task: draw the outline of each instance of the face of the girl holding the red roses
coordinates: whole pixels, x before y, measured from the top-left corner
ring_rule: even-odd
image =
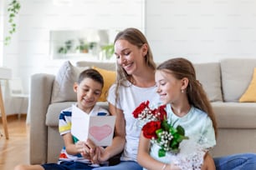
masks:
[[[176,103],[182,95],[182,80],[177,79],[171,72],[156,70],[156,92],[160,95],[161,102]]]

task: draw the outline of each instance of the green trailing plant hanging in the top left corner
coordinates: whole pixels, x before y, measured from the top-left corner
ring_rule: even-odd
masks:
[[[16,32],[16,23],[14,22],[14,18],[18,15],[21,4],[17,0],[13,0],[8,4],[8,23],[9,23],[9,31],[8,36],[4,39],[4,44],[8,45],[11,42],[11,35]]]

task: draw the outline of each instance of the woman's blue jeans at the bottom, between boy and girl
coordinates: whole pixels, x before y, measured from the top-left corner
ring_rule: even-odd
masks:
[[[93,168],[93,170],[120,170],[120,169],[129,169],[129,170],[142,170],[143,168],[134,161],[121,161],[117,165],[110,166],[110,167],[99,167]]]

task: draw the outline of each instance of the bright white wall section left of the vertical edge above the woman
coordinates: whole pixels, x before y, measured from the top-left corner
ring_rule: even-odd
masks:
[[[3,4],[3,0],[0,1]],[[20,2],[17,32],[13,34],[10,45],[3,47],[3,63],[0,65],[12,68],[13,77],[22,77],[26,92],[31,75],[56,73],[64,62],[50,57],[50,30],[122,30],[127,27],[144,30],[144,0],[72,0],[71,5],[64,6],[54,6],[53,0]],[[6,15],[7,7],[4,9]],[[3,42],[3,36],[0,38]]]

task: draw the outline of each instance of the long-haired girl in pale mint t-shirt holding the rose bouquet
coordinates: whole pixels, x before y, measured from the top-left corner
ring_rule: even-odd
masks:
[[[167,120],[181,125],[185,129],[185,135],[189,138],[182,141],[181,151],[182,149],[192,150],[186,145],[190,147],[198,145],[203,150],[212,148],[216,144],[216,120],[206,92],[196,79],[192,63],[185,58],[173,58],[163,62],[156,68],[155,79],[156,92],[160,95],[162,104],[166,105]],[[141,133],[138,162],[142,167],[179,169],[171,162],[172,153],[159,157],[160,147],[156,143],[151,144],[150,142],[150,139],[145,138]],[[184,153],[184,150],[182,152]],[[188,161],[191,163],[192,160]],[[180,168],[186,167],[185,165],[183,163]],[[213,160],[204,163],[202,169],[215,169]]]

